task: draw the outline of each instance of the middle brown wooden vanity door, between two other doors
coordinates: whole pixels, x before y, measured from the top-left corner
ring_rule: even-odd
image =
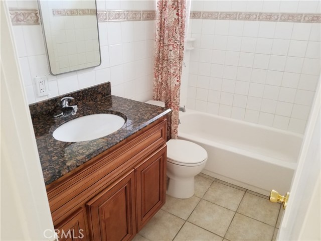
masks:
[[[134,169],[117,179],[86,205],[93,240],[131,239],[136,234]]]

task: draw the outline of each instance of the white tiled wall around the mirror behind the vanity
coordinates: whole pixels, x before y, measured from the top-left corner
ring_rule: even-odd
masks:
[[[97,1],[98,10],[155,10],[155,1]],[[37,1],[9,1],[9,7],[38,9]],[[152,98],[155,21],[101,22],[99,67],[53,76],[48,71],[40,25],[13,26],[28,103],[99,83],[111,82],[112,94],[146,101]],[[38,97],[36,76],[46,75],[49,96]]]

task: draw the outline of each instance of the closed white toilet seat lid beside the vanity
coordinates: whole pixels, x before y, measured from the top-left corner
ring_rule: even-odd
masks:
[[[167,142],[167,161],[181,166],[199,166],[207,160],[206,150],[189,141],[170,140]]]

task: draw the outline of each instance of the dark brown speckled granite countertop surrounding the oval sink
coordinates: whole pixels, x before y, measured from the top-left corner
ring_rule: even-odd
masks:
[[[74,102],[77,104],[77,101]],[[171,110],[114,95],[78,105],[76,115],[54,119],[52,114],[32,115],[41,167],[48,185],[93,157],[103,153]],[[52,137],[54,130],[71,119],[96,113],[113,113],[125,117],[118,131],[85,142],[61,142]]]

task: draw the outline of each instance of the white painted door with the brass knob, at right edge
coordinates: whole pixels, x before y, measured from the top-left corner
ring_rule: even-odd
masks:
[[[321,240],[320,87],[315,95],[277,240]]]

